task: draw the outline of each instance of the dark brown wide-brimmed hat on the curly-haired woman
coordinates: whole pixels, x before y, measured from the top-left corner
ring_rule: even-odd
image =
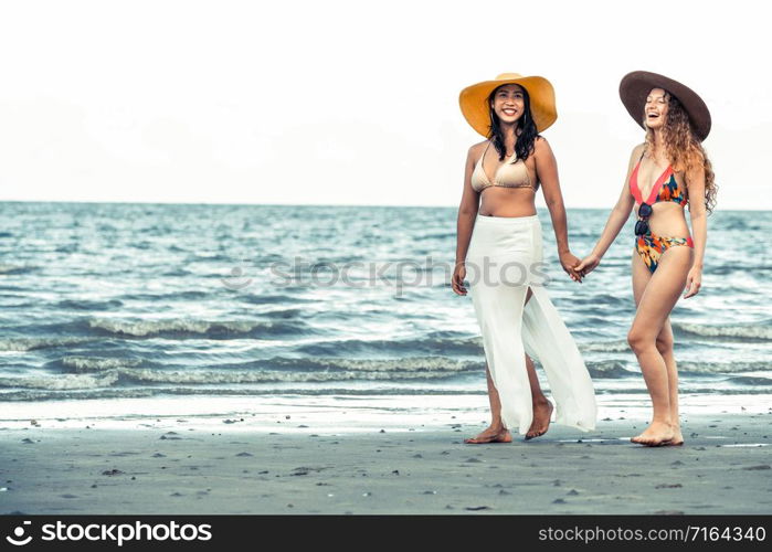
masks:
[[[708,137],[710,134],[710,112],[695,91],[664,75],[648,71],[633,71],[622,78],[620,97],[630,116],[641,125],[641,128],[646,128],[643,121],[644,106],[646,105],[646,96],[652,92],[652,88],[664,88],[677,97],[689,115],[689,121],[697,138],[702,141]]]

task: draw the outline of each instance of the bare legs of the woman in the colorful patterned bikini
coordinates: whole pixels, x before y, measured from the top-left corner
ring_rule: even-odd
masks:
[[[641,364],[654,411],[649,426],[632,439],[643,445],[658,446],[676,437],[670,408],[671,378],[657,348],[657,338],[684,290],[691,255],[691,248],[683,246],[670,247],[663,253],[657,270],[639,296],[635,319],[627,335],[627,341]],[[639,268],[645,266],[639,257],[633,259],[633,266],[635,280]]]

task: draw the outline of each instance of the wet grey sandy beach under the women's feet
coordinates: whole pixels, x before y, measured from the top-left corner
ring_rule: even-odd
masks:
[[[599,399],[594,431],[477,446],[462,440],[487,423],[479,395],[216,397],[195,414],[189,399],[155,412],[151,400],[72,401],[80,417],[50,404],[29,420],[34,405],[6,402],[0,513],[772,511],[772,411],[685,397],[686,444],[645,448],[628,440],[644,397]]]

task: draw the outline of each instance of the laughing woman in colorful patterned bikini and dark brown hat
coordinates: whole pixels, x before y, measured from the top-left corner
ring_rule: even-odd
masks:
[[[627,341],[652,396],[653,416],[631,440],[683,445],[669,315],[681,291],[689,298],[701,286],[706,215],[712,211],[717,189],[701,145],[710,131],[710,113],[695,92],[656,73],[627,74],[620,95],[646,130],[646,139],[633,149],[622,193],[597,244],[575,269],[584,276],[600,264],[635,206],[632,273],[637,309]],[[686,224],[687,205],[694,238]]]

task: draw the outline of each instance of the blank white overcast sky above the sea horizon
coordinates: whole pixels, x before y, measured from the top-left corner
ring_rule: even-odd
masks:
[[[0,6],[0,201],[457,205],[458,93],[517,72],[556,88],[567,205],[610,208],[645,70],[708,104],[718,208],[772,209],[763,2]]]

